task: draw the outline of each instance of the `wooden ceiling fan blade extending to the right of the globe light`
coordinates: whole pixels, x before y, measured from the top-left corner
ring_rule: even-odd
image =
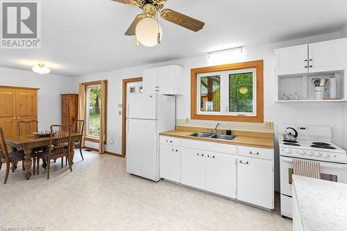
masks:
[[[160,12],[160,17],[195,32],[200,31],[203,26],[205,26],[204,22],[198,21],[192,17],[188,17],[187,15],[183,15],[170,9],[162,10],[162,12]]]

